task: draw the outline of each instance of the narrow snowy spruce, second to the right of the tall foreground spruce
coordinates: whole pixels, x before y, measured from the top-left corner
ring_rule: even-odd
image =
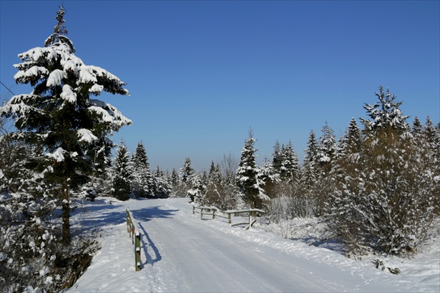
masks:
[[[153,178],[149,170],[149,162],[145,146],[140,141],[132,156],[133,181],[132,189],[136,197],[153,197]]]

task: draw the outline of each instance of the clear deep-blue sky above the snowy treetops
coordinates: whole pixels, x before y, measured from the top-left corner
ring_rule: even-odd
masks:
[[[379,85],[404,115],[440,116],[439,1],[0,1],[0,80],[15,94],[17,55],[42,47],[64,2],[75,55],[128,85],[101,96],[133,120],[113,136],[152,168],[209,169],[276,140],[300,159],[311,129],[344,134]],[[1,95],[7,93],[1,86]]]

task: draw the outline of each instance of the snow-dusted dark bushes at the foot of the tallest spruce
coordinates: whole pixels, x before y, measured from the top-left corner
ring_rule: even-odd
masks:
[[[62,245],[57,199],[29,192],[0,196],[0,291],[23,292],[31,286],[43,292],[71,287],[97,249],[90,240],[74,238]]]

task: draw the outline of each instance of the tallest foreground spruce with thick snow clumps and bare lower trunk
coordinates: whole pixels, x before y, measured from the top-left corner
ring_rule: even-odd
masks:
[[[119,78],[98,66],[87,66],[75,56],[66,36],[64,8],[57,13],[54,34],[45,47],[19,55],[14,78],[34,87],[31,94],[12,97],[0,114],[14,117],[13,138],[38,145],[45,154],[45,180],[63,210],[63,239],[70,243],[70,194],[89,181],[93,157],[108,144],[108,136],[131,121],[115,107],[91,96],[102,91],[129,94]]]

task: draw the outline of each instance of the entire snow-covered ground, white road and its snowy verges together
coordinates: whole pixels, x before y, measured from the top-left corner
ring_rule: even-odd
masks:
[[[200,220],[188,199],[113,202],[77,208],[74,233],[94,233],[102,248],[68,292],[439,292],[438,238],[411,259],[390,259],[402,273],[375,269],[338,252],[263,231]],[[138,222],[142,270],[126,229]],[[209,218],[209,217],[206,217]]]

